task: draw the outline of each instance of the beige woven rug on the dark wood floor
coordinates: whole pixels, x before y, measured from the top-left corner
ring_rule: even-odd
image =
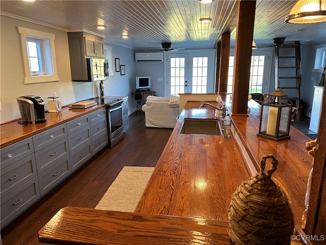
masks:
[[[123,167],[95,209],[133,212],[153,170],[154,167]]]

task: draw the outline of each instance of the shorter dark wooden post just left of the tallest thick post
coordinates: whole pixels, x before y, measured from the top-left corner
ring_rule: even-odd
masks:
[[[229,57],[230,57],[230,33],[222,34],[221,43],[221,66],[219,79],[219,93],[225,94],[228,89],[228,73],[229,73]]]

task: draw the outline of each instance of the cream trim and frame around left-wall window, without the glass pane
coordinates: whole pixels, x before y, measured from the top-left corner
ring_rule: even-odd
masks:
[[[57,72],[57,60],[56,60],[56,51],[55,51],[55,34],[36,31],[28,28],[17,27],[19,37],[20,37],[20,46],[21,46],[21,55],[23,61],[23,70],[24,70],[24,83],[44,83],[44,82],[57,82],[59,81],[59,76]],[[44,41],[42,46],[42,55],[44,58],[44,66],[46,67],[46,73],[33,74],[30,70],[30,62],[27,51],[27,40],[29,37],[36,39],[48,40]]]

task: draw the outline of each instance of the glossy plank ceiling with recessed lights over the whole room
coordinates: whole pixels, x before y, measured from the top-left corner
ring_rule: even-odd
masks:
[[[254,40],[271,44],[275,37],[286,41],[324,41],[323,23],[289,24],[284,17],[297,1],[257,1]],[[226,27],[235,0],[201,4],[197,0],[127,1],[1,1],[1,14],[30,20],[64,31],[88,30],[104,35],[106,42],[130,48],[160,49],[161,42],[172,47],[213,47]],[[212,18],[202,23],[200,18]],[[97,24],[106,29],[99,31]],[[128,39],[122,39],[127,34]],[[236,30],[231,32],[235,43]]]

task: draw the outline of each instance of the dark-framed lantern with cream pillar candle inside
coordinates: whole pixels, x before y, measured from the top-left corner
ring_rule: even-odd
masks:
[[[292,103],[280,86],[261,104],[257,136],[279,141],[289,139]]]

